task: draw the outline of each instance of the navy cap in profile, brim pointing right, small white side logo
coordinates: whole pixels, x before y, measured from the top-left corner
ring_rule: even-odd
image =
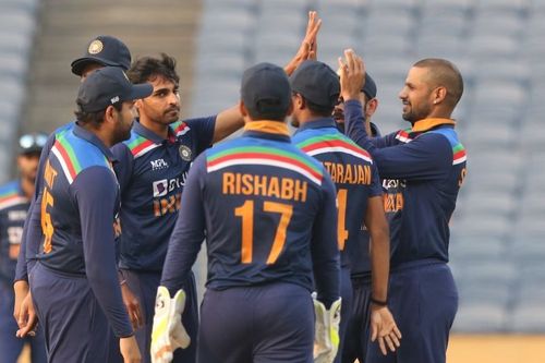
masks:
[[[119,66],[105,66],[80,85],[76,102],[84,112],[98,112],[110,105],[146,98],[153,90],[149,83],[132,84]]]

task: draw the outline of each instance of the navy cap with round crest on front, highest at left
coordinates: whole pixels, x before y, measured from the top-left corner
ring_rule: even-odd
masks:
[[[89,63],[121,66],[126,71],[131,66],[131,52],[118,38],[99,35],[89,41],[85,55],[72,62],[72,73],[81,76],[83,69]]]

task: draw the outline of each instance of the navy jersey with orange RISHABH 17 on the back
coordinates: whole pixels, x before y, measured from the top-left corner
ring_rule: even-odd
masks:
[[[288,282],[339,297],[336,193],[284,123],[254,121],[194,162],[161,285],[175,291],[206,237],[208,289]],[[313,278],[314,273],[314,278]]]

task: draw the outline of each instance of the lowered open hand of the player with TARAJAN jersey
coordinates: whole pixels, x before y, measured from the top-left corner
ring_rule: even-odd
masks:
[[[388,350],[395,352],[399,348],[401,331],[399,331],[396,320],[388,306],[371,307],[371,341],[378,339],[378,346],[384,355]]]

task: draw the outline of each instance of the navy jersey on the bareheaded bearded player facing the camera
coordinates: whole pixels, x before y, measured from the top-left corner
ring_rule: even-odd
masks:
[[[187,171],[211,145],[216,118],[179,121],[167,140],[135,121],[131,138],[116,145],[121,187],[120,267],[161,271]]]

